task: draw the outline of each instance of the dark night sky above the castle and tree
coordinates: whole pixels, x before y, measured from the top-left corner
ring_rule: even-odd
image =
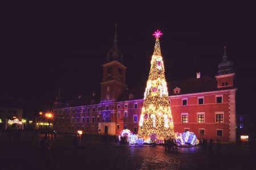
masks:
[[[146,86],[155,44],[152,34],[159,29],[167,81],[195,77],[199,71],[214,78],[226,44],[236,72],[237,114],[252,111],[256,63],[253,4],[167,2],[2,5],[1,96],[22,97],[41,107],[52,105],[59,89],[66,99],[97,92],[117,23],[128,86]]]

